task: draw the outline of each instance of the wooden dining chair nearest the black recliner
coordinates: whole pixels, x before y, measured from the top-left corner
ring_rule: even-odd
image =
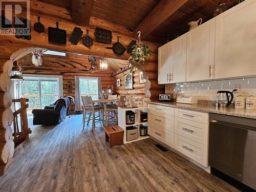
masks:
[[[95,128],[95,113],[96,112],[101,112],[102,114],[102,119],[99,119],[97,122],[102,121],[103,122],[103,111],[104,108],[102,106],[94,106],[94,103],[92,101],[92,97],[88,96],[81,96],[82,99],[82,106],[83,106],[83,129],[84,129],[84,124],[86,123],[86,114],[89,113],[89,117],[87,120],[87,125],[89,124],[90,120],[93,120],[93,126],[92,130],[94,131]],[[91,119],[91,116],[93,115],[93,118]]]

